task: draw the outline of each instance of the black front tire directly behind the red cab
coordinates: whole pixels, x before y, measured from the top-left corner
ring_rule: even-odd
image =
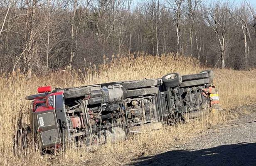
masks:
[[[68,99],[68,98],[78,98],[78,97],[89,95],[89,94],[91,94],[91,88],[90,87],[66,90],[63,93],[64,98],[66,98],[66,99]]]

